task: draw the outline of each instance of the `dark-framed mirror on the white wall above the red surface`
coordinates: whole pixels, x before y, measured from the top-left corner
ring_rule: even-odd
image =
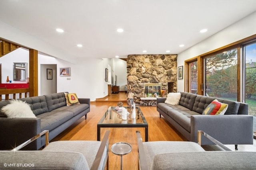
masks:
[[[13,79],[26,81],[28,77],[28,63],[13,63]]]

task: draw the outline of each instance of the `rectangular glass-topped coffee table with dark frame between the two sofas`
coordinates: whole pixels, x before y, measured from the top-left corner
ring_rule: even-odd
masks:
[[[102,116],[102,118],[100,119],[100,121],[97,124],[97,141],[100,141],[100,128],[102,127],[144,127],[145,128],[145,142],[148,142],[148,122],[146,121],[142,111],[140,110],[140,107],[136,106],[137,111],[137,116],[136,119],[142,119],[143,123],[127,123],[127,124],[122,124],[122,123],[103,123],[104,120],[108,119],[108,116],[112,116],[112,114],[118,114],[115,113],[112,109],[114,107],[111,106],[108,108],[108,110],[106,111],[106,113],[104,113],[104,115]],[[128,108],[128,107],[125,107]]]

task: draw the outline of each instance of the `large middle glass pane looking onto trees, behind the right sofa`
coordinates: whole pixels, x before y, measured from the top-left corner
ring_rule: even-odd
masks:
[[[204,95],[237,101],[237,49],[204,58]]]

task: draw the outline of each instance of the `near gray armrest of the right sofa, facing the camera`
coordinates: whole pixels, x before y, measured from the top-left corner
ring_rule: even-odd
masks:
[[[224,145],[253,144],[253,116],[251,115],[192,115],[190,141],[197,142],[197,131],[204,131]],[[212,145],[202,139],[202,145]]]

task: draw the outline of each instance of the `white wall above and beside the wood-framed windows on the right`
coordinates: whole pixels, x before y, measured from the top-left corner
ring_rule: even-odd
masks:
[[[177,65],[184,65],[184,61],[198,55],[218,49],[230,43],[234,43],[246,37],[256,34],[256,12],[246,18],[226,27],[222,31],[212,35],[208,39],[190,47],[186,51],[178,54]],[[178,79],[178,91],[184,91],[184,79]]]

